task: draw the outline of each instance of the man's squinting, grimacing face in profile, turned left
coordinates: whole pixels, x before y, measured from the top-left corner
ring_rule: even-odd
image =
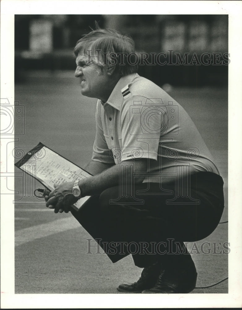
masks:
[[[80,78],[82,95],[107,100],[109,78],[106,68],[100,74],[97,65],[91,62],[84,51],[79,52],[76,65],[75,77]]]

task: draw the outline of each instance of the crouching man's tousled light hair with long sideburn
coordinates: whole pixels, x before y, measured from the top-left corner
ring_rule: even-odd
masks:
[[[96,27],[98,27],[97,24]],[[105,64],[113,64],[115,66],[114,72],[121,76],[138,71],[137,61],[134,61],[134,58],[137,59],[138,55],[135,55],[133,39],[114,29],[97,28],[84,35],[83,38],[77,41],[74,47],[74,55],[77,57],[80,51],[84,51],[89,56],[98,53],[100,56],[98,61],[97,57],[92,57],[92,59],[96,60],[95,63],[98,65],[100,73],[103,72]]]

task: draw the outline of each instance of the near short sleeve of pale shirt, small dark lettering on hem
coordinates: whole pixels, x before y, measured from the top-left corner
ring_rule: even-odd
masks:
[[[152,100],[143,96],[130,96],[121,108],[121,161],[131,158],[157,160],[161,111]]]

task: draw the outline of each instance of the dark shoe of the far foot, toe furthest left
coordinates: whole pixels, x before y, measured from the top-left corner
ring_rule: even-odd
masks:
[[[137,282],[134,283],[122,283],[117,290],[119,292],[132,292],[132,293],[141,293],[142,290],[148,290],[152,288],[161,272],[161,264],[154,263],[149,267],[143,269],[141,277]]]

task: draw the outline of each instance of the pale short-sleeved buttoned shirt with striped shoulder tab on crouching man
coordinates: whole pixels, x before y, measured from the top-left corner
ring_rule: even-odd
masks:
[[[92,155],[94,161],[115,164],[132,158],[147,158],[153,175],[144,182],[159,182],[154,172],[169,179],[177,167],[219,174],[184,108],[137,73],[121,77],[107,102],[98,100]]]

